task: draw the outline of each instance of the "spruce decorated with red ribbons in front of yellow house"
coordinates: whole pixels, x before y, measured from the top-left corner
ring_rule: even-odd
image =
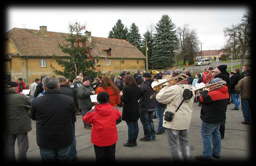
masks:
[[[90,78],[97,77],[100,73],[97,64],[99,57],[92,57],[91,50],[93,49],[93,42],[89,41],[90,35],[82,35],[82,30],[85,30],[85,25],[79,23],[69,24],[69,34],[64,36],[64,44],[59,45],[62,52],[69,55],[68,60],[59,59],[58,55],[53,53],[53,59],[60,67],[63,67],[63,71],[57,70],[50,65],[51,71],[56,75],[62,75],[70,80],[73,80],[79,73],[83,73],[83,76],[89,76]]]

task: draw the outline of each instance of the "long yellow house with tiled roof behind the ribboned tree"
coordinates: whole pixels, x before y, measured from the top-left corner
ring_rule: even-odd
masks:
[[[87,31],[85,33],[91,34]],[[63,35],[68,34],[49,32],[46,26],[41,26],[40,30],[11,29],[4,34],[4,74],[9,76],[11,81],[22,77],[26,84],[31,84],[35,78],[41,76],[55,76],[50,64],[57,70],[62,69],[53,60],[52,55],[55,54],[64,60],[69,57],[58,46],[58,43],[64,44]],[[126,40],[93,36],[89,40],[94,43],[91,55],[100,56],[98,64],[101,65],[100,70],[103,73],[121,72],[123,69],[130,72],[145,69],[146,57]]]

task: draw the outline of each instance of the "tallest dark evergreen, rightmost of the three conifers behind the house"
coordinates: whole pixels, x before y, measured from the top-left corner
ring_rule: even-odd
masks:
[[[175,24],[168,15],[163,15],[156,24],[155,43],[149,64],[165,68],[174,64],[174,44],[177,41]]]

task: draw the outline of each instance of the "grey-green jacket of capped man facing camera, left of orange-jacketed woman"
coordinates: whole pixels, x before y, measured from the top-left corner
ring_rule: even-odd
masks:
[[[78,107],[80,109],[91,109],[94,106],[94,102],[91,102],[90,95],[92,94],[93,88],[91,86],[81,85],[77,89],[78,95]]]

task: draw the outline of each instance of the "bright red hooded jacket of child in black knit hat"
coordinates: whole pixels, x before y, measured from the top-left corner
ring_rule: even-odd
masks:
[[[105,147],[117,142],[116,120],[121,116],[121,112],[110,103],[99,104],[86,113],[82,120],[87,124],[92,124],[91,142],[94,145]]]

